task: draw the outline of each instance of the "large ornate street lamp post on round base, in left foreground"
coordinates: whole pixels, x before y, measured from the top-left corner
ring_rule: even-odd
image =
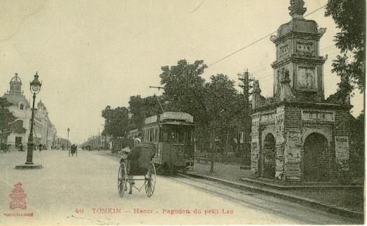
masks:
[[[29,169],[29,168],[35,168],[39,169],[42,168],[41,164],[34,164],[33,163],[33,147],[34,147],[34,141],[33,141],[33,125],[34,125],[34,102],[36,101],[36,94],[39,93],[41,90],[42,83],[39,82],[39,75],[36,72],[34,75],[34,80],[29,84],[29,90],[31,90],[31,93],[33,93],[33,104],[32,104],[32,118],[31,118],[31,130],[29,131],[28,136],[28,143],[27,143],[27,162],[22,165],[15,166],[15,169]]]

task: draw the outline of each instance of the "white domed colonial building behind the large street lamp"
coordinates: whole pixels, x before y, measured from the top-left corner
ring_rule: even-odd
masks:
[[[18,148],[22,143],[26,148],[31,128],[32,108],[23,94],[22,80],[18,77],[18,73],[11,78],[10,91],[6,92],[3,97],[11,103],[8,109],[17,118],[14,130],[8,135],[6,143],[10,144],[11,148]],[[55,141],[57,141],[56,128],[48,118],[46,106],[39,101],[34,112],[34,143],[37,146],[41,143],[43,147],[51,148],[55,146]]]

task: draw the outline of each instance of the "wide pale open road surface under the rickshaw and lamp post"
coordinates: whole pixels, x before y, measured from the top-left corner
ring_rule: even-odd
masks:
[[[32,170],[14,169],[25,162],[26,153],[0,154],[0,225],[356,223],[282,199],[179,176],[158,176],[150,198],[144,190],[120,198],[116,157],[104,151],[79,151],[78,157],[67,154],[35,152],[34,162],[43,164],[43,169]],[[9,195],[18,182],[27,194],[26,210],[9,209]]]

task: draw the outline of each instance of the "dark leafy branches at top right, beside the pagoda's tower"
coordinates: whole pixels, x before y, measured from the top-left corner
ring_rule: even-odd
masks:
[[[340,32],[335,36],[335,45],[341,55],[333,60],[332,72],[348,76],[339,87],[351,90],[355,86],[361,92],[365,84],[366,56],[366,0],[328,0],[325,16],[333,17]]]

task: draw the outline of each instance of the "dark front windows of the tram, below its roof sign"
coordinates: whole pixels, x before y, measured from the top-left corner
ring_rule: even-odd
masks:
[[[183,125],[166,125],[163,128],[163,142],[191,143],[191,129]]]

